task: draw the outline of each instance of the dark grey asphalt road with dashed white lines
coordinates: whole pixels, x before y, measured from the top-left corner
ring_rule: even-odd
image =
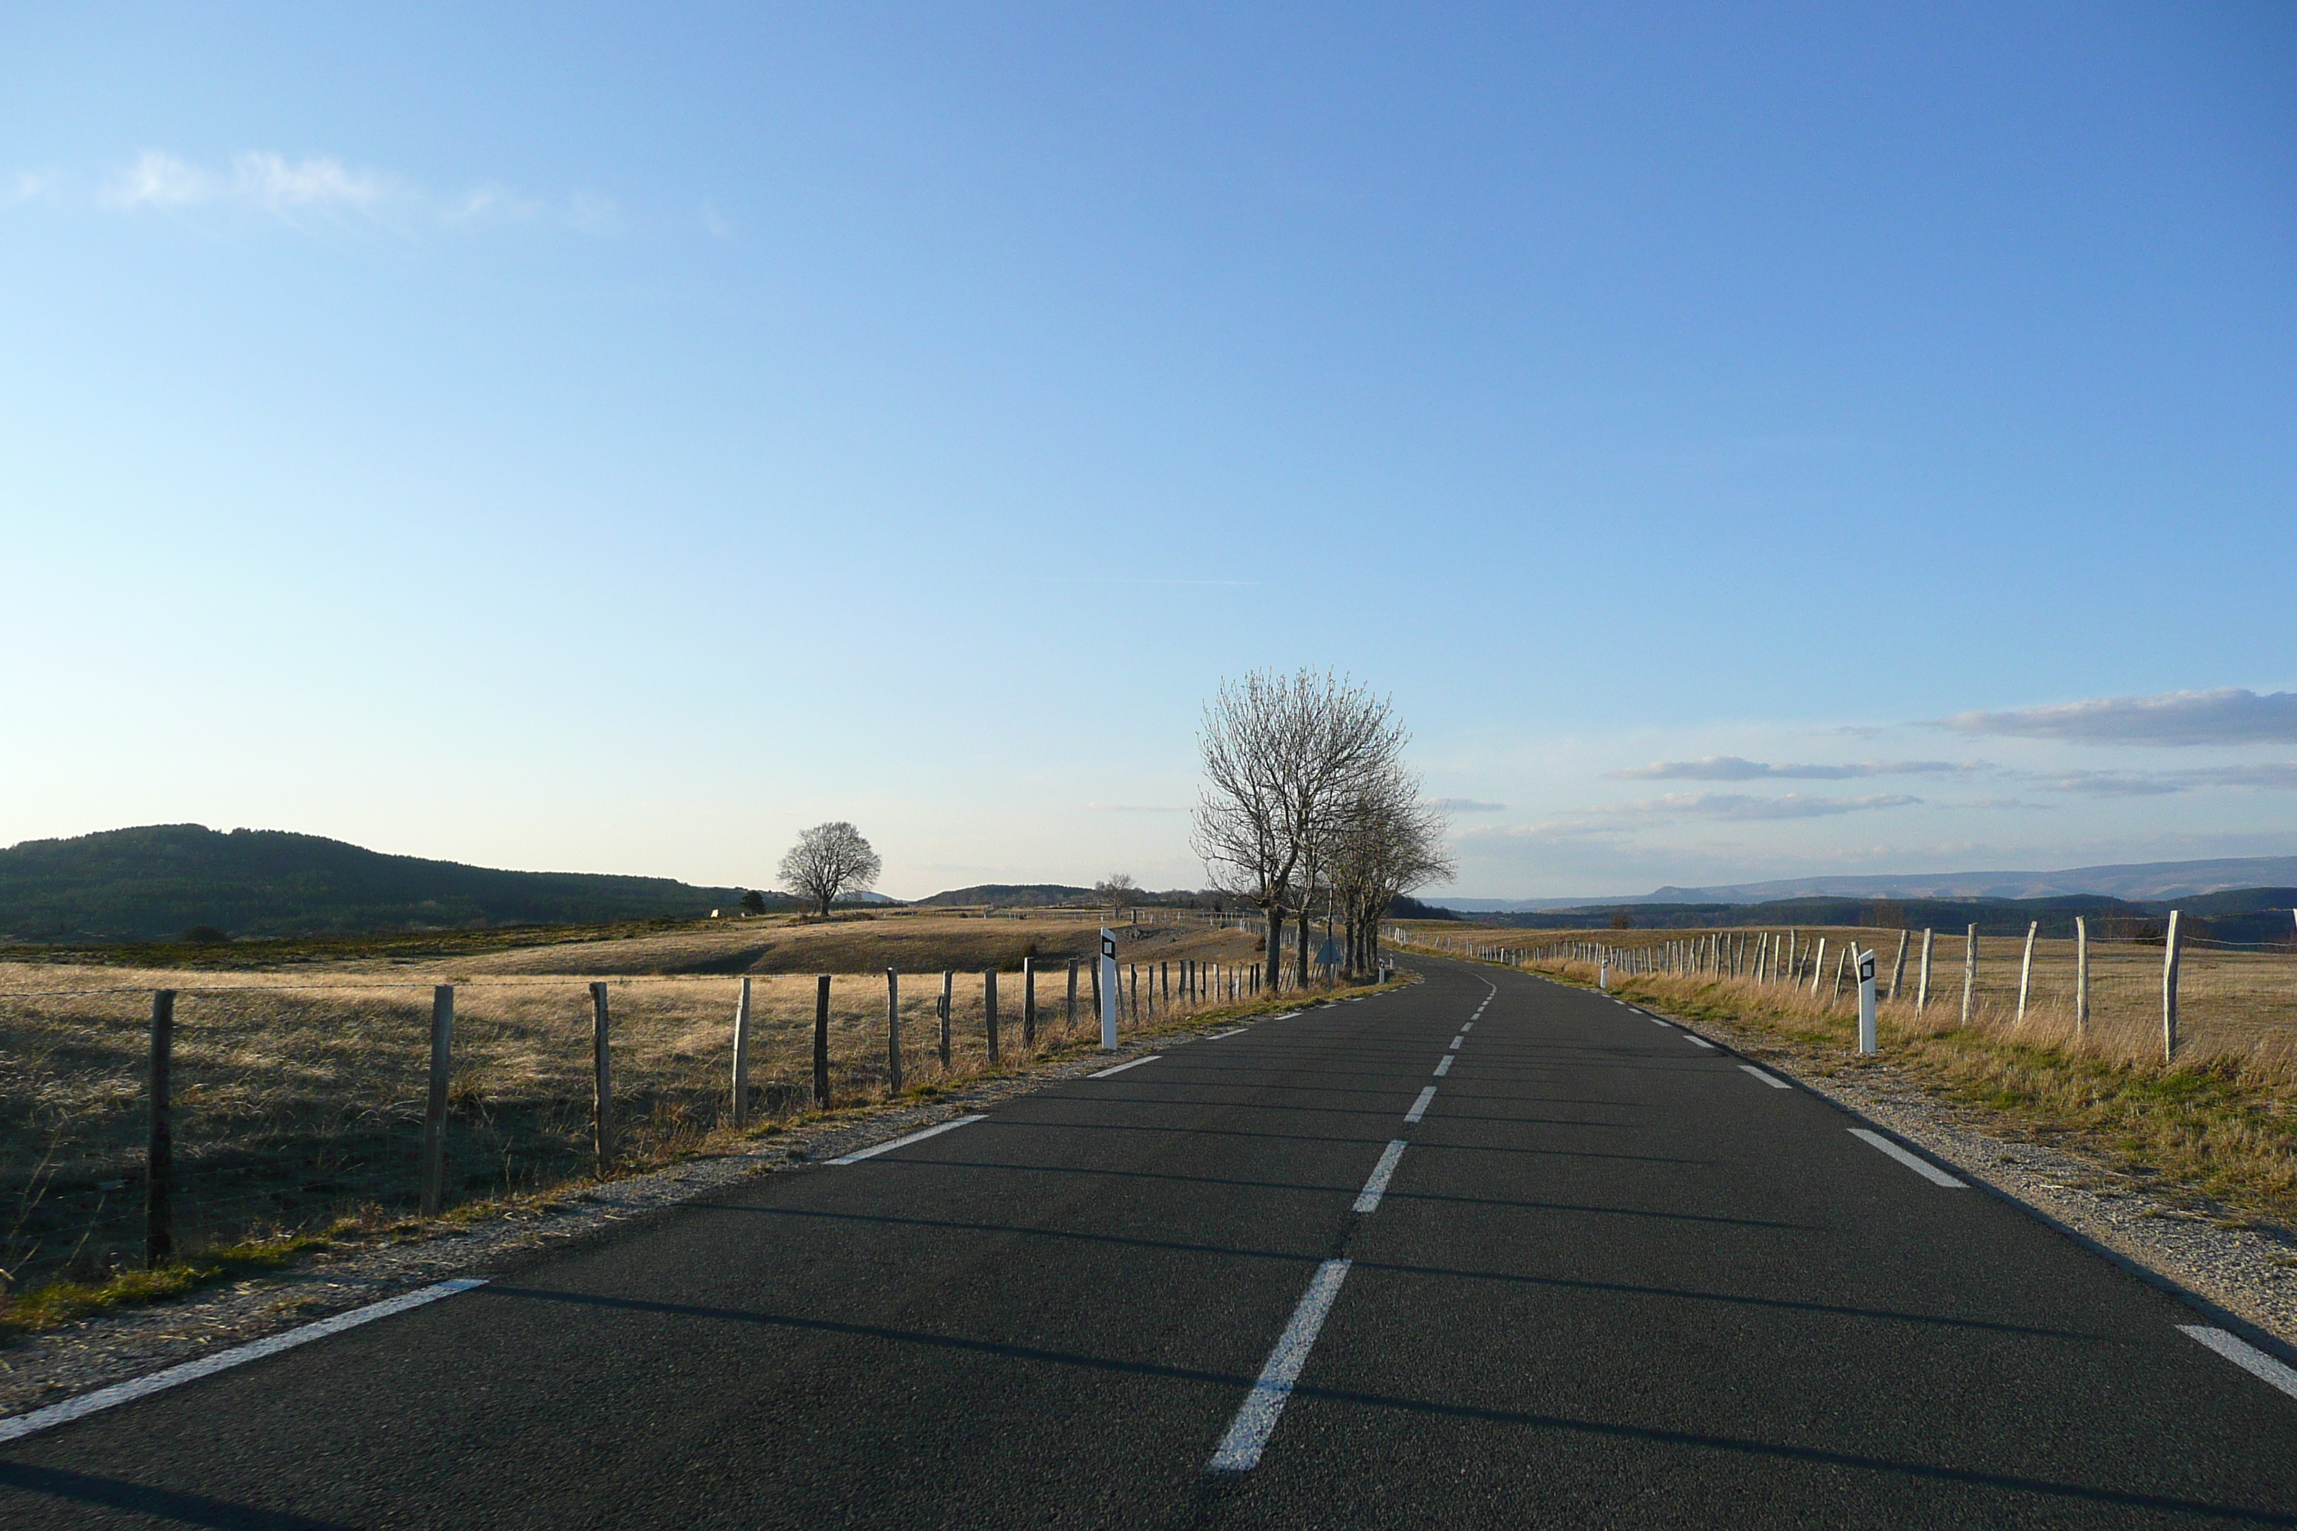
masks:
[[[1422,966],[11,1441],[0,1524],[2297,1524],[2297,1400],[2194,1311]]]

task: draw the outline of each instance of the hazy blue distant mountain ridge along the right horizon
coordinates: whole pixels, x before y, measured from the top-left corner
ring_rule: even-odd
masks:
[[[2141,861],[2063,872],[1884,872],[1867,877],[1789,877],[1714,888],[1658,888],[1642,897],[1433,897],[1447,909],[1523,914],[1619,904],[1762,904],[1782,897],[2067,897],[2095,893],[2122,900],[2191,897],[2230,888],[2297,884],[2297,856],[2219,856],[2214,861]]]

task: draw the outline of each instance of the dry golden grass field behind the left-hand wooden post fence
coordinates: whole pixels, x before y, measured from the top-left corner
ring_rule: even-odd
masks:
[[[1066,969],[1096,932],[1075,918],[900,914],[292,971],[0,962],[0,1272],[9,1285],[85,1281],[140,1256],[154,989],[179,992],[177,1228],[198,1249],[342,1217],[384,1223],[413,1205],[432,985],[457,987],[448,1196],[473,1200],[593,1171],[593,980],[609,982],[620,1155],[650,1164],[728,1120],[740,973],[751,976],[751,1111],[769,1122],[811,1106],[815,973],[832,973],[834,1099],[868,1102],[889,1081],[884,969],[900,973],[903,1083],[930,1090],[988,1070],[983,969],[1001,969],[1006,1065],[1024,1060],[1024,957],[1038,969],[1036,1051],[1075,1040]],[[1197,923],[1128,932],[1121,959],[1146,987],[1181,957],[1256,955],[1250,934]],[[944,969],[956,971],[946,1067]],[[1080,1033],[1098,1026],[1089,971]],[[1158,1019],[1176,1010],[1158,996]]]

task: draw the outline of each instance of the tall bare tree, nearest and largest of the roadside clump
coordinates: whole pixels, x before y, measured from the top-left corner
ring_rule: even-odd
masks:
[[[1190,842],[1213,884],[1261,909],[1268,971],[1298,909],[1296,982],[1307,982],[1307,909],[1318,891],[1330,815],[1390,769],[1408,735],[1385,698],[1330,673],[1252,670],[1204,705],[1204,787]]]

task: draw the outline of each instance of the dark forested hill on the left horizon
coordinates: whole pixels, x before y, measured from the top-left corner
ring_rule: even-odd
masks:
[[[694,918],[740,897],[668,877],[384,856],[276,829],[147,824],[0,849],[0,939],[16,941],[152,941],[202,925],[296,937]]]

